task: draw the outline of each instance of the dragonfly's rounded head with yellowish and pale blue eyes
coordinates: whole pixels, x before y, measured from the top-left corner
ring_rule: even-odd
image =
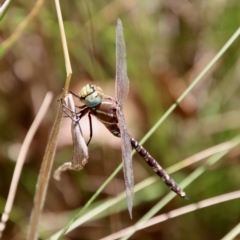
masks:
[[[80,101],[88,107],[95,107],[100,104],[102,102],[103,95],[102,89],[93,84],[87,84],[79,93]]]

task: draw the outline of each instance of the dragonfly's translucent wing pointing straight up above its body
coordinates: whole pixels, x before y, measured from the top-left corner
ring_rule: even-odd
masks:
[[[122,106],[127,98],[129,91],[129,80],[127,76],[126,47],[124,42],[122,22],[117,20],[116,28],[116,81],[115,96],[118,103]]]

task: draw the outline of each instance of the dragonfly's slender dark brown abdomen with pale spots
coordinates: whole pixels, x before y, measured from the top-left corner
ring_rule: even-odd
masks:
[[[133,137],[130,137],[132,148],[145,159],[146,163],[152,167],[153,171],[161,177],[163,182],[176,194],[182,198],[187,198],[186,193],[177,185],[177,183],[167,174],[159,163],[143,148]]]

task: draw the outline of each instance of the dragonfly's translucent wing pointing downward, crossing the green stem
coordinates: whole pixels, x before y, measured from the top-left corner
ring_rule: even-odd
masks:
[[[134,177],[132,167],[132,146],[130,137],[125,125],[124,116],[121,110],[117,109],[118,125],[122,139],[122,160],[123,160],[123,172],[126,186],[127,204],[130,217],[132,218],[132,206],[134,198]]]

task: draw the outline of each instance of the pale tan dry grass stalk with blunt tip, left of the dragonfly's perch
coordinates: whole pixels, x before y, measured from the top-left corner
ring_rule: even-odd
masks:
[[[48,92],[44,98],[44,101],[42,103],[42,106],[40,107],[37,116],[35,117],[24,141],[21,147],[21,150],[19,152],[18,155],[18,159],[17,159],[17,163],[14,169],[14,173],[13,173],[13,177],[12,177],[12,182],[10,185],[10,190],[8,193],[8,198],[7,198],[7,202],[4,208],[4,212],[2,214],[2,218],[1,218],[1,222],[0,222],[0,238],[2,237],[2,233],[5,229],[6,223],[8,221],[9,218],[9,213],[12,210],[12,206],[13,206],[13,201],[16,195],[16,190],[17,190],[17,186],[18,186],[18,182],[19,182],[19,178],[22,172],[22,167],[29,149],[29,146],[32,142],[32,139],[40,125],[40,123],[43,120],[43,117],[46,115],[46,112],[49,108],[49,105],[52,101],[53,98],[53,94],[51,92]]]

